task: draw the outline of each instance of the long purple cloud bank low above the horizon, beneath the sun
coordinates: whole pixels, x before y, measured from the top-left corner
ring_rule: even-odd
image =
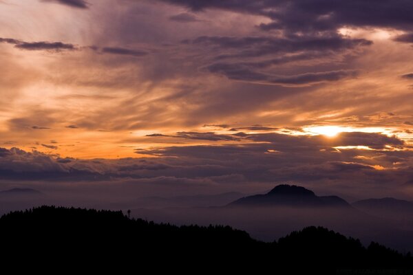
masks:
[[[85,184],[108,180],[130,181],[137,185],[171,184],[170,187],[185,183],[187,191],[196,189],[200,183],[210,188],[234,190],[237,186],[273,186],[283,181],[317,188],[339,188],[348,185],[348,179],[351,179],[351,191],[343,190],[352,192],[352,195],[365,188],[373,193],[383,192],[384,187],[397,186],[413,178],[413,152],[405,151],[406,144],[399,138],[380,133],[341,133],[335,138],[281,133],[218,135],[212,132],[178,132],[172,136],[228,143],[137,149],[136,153],[156,157],[125,159],[61,158],[38,151],[0,148],[0,176],[9,181],[52,180],[58,185],[62,181]],[[338,151],[335,146],[368,146],[374,150],[348,148]]]

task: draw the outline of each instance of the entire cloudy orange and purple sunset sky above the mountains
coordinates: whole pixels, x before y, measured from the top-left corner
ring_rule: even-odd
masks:
[[[1,189],[413,199],[412,10],[0,0]]]

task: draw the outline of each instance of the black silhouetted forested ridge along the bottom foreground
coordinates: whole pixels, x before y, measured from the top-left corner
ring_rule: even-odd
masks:
[[[122,212],[42,206],[0,218],[2,260],[193,272],[413,268],[410,254],[309,227],[264,243],[229,226],[157,224]],[[133,272],[136,273],[136,272]],[[138,272],[142,273],[142,272]]]

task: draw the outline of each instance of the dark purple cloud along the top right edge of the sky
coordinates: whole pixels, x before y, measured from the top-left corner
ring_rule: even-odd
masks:
[[[195,1],[163,0],[183,5],[193,11],[218,8],[259,14],[273,21],[260,25],[262,30],[284,32],[329,32],[343,26],[398,28],[410,30],[413,3],[405,0],[329,1],[329,0],[260,0]]]

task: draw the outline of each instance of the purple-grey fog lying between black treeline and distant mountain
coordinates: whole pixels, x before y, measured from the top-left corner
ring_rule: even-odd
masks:
[[[108,199],[90,195],[35,192],[17,189],[0,192],[0,213],[34,206],[56,205],[82,208],[131,210],[131,217],[176,225],[231,225],[245,230],[255,239],[274,241],[293,230],[320,225],[364,245],[377,241],[400,252],[413,251],[413,214],[388,219],[391,209],[374,212],[348,207],[242,207],[226,206],[244,195],[229,192],[218,195],[137,197]],[[396,217],[396,216],[394,216]]]

